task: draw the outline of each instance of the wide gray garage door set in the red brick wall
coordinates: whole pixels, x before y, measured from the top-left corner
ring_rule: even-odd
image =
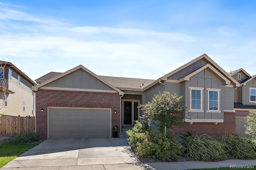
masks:
[[[110,137],[110,109],[48,109],[48,138]]]

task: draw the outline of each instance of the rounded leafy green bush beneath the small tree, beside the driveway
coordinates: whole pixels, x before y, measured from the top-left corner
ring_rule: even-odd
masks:
[[[159,133],[152,128],[144,128],[139,122],[128,130],[128,144],[134,148],[138,157],[157,158],[162,161],[177,161],[184,148],[171,130]]]

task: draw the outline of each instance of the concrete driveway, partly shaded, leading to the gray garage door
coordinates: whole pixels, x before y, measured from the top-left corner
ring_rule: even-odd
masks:
[[[47,139],[9,162],[4,169],[145,169],[126,138]]]

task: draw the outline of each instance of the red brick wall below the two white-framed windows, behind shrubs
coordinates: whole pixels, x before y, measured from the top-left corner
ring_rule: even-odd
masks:
[[[236,133],[236,117],[233,112],[224,112],[224,123],[193,123],[184,127],[172,127],[172,130],[178,136],[191,132],[193,135],[208,134],[210,136],[228,136]]]

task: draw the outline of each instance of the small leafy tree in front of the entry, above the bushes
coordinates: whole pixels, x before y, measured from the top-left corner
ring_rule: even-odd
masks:
[[[164,91],[158,95],[154,95],[151,102],[145,105],[140,105],[142,110],[145,110],[142,119],[144,123],[156,121],[156,127],[166,133],[166,129],[172,125],[182,126],[182,115],[186,111],[184,102],[181,101],[182,96],[170,95],[168,91]]]

